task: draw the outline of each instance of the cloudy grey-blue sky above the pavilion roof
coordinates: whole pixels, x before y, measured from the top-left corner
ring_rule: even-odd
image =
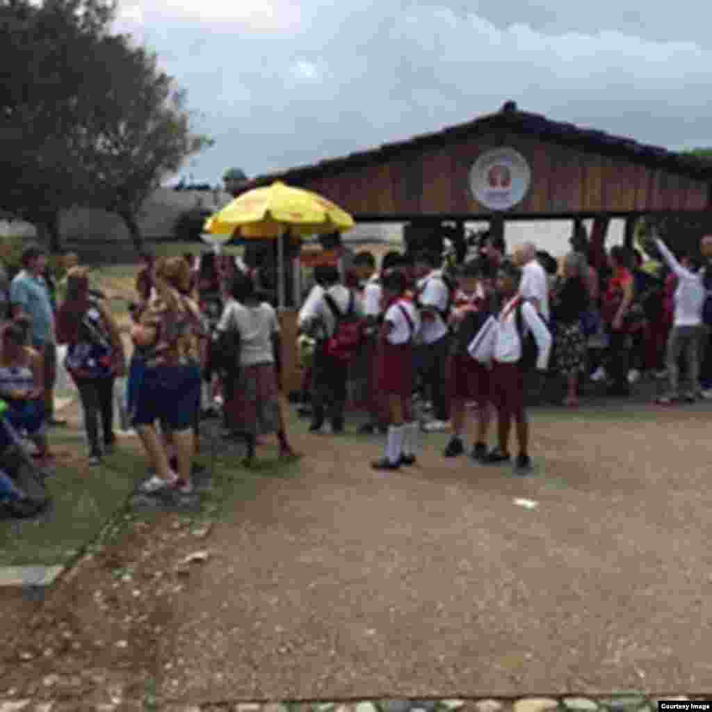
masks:
[[[508,99],[671,150],[712,146],[704,0],[123,0],[187,90],[216,184],[404,140]]]

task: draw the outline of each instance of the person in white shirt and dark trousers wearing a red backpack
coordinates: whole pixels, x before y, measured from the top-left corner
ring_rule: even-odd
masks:
[[[337,317],[329,306],[328,298],[333,300],[341,315],[352,310],[352,314],[362,317],[363,309],[352,290],[340,283],[337,268],[318,266],[314,272],[320,292],[315,292],[315,288],[299,313],[299,328],[318,340],[312,372],[312,422],[309,431],[314,433],[322,429],[325,404],[330,402],[332,431],[341,433],[344,429],[348,365],[325,352],[325,344],[334,335],[337,325]]]

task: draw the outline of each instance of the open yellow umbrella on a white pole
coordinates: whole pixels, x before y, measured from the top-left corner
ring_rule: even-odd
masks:
[[[241,235],[246,239],[276,239],[279,305],[284,306],[284,240],[294,236],[343,232],[353,218],[330,200],[303,188],[277,181],[237,197],[206,220],[204,230],[214,236]]]

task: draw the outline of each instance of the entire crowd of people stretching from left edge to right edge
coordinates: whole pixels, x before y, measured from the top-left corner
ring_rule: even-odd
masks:
[[[578,231],[570,244],[559,263],[531,243],[506,256],[503,239],[486,233],[459,266],[425,250],[392,251],[379,265],[362,251],[316,267],[298,315],[298,404],[309,431],[327,422],[344,431],[349,394],[360,390],[368,414],[360,431],[385,436],[373,466],[392,470],[414,464],[422,431],[451,431],[444,456],[464,454],[472,409],[473,459],[511,461],[514,425],[514,465],[525,473],[532,391],[545,397],[556,385],[575,408],[584,379],[624,397],[647,372],[668,379],[659,404],[711,398],[712,236],[696,255],[647,240],[647,262],[622,246],[602,262]],[[279,320],[259,270],[214,253],[143,255],[129,355],[88,270],[74,254],[64,266],[55,285],[46,253],[31,245],[19,273],[0,283],[1,417],[34,442],[39,467],[52,464],[48,429],[63,424],[53,412],[58,344],[67,346],[91,465],[115,448],[115,386],[127,377],[122,403],[150,461],[147,495],[192,491],[201,418],[219,415],[216,404],[223,435],[246,444],[246,466],[268,433],[281,457],[296,456],[280,397]]]

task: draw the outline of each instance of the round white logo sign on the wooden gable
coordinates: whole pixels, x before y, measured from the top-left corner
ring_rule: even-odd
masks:
[[[520,203],[531,183],[525,157],[511,148],[483,153],[470,171],[470,189],[476,201],[490,210],[508,210]]]

